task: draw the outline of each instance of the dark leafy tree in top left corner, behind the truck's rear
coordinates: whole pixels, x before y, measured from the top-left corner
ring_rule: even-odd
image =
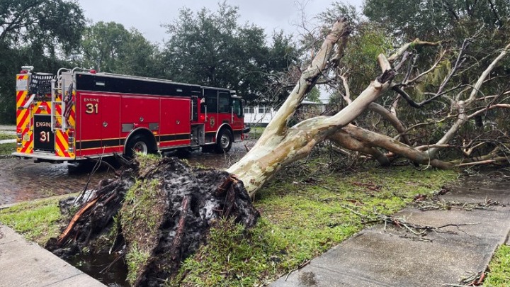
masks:
[[[61,65],[76,48],[85,26],[74,1],[0,1],[0,123],[14,123],[15,75],[24,64],[36,71]]]

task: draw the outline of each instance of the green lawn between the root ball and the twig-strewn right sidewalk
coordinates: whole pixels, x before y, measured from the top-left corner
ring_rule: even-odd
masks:
[[[168,285],[270,283],[362,230],[363,218],[348,208],[365,214],[374,209],[392,214],[417,193],[431,194],[457,175],[455,171],[416,171],[412,167],[322,174],[295,179],[280,176],[271,181],[254,203],[261,212],[256,227],[244,230],[227,223],[213,228],[209,244],[184,261],[180,275]]]

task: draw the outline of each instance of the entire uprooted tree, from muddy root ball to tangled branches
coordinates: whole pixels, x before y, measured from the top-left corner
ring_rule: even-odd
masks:
[[[157,278],[172,276],[179,262],[205,242],[218,218],[253,225],[258,213],[249,198],[321,142],[382,165],[398,158],[440,168],[506,161],[510,90],[508,68],[501,63],[510,44],[487,53],[475,66],[467,48],[476,37],[447,50],[416,39],[389,57],[380,54],[380,75],[353,96],[342,66],[350,33],[346,18],[334,23],[288,99],[239,162],[226,171],[191,169],[177,159],[135,162],[117,179],[101,182],[53,248],[69,242],[100,245],[101,235],[113,232],[122,237],[118,244],[127,246],[128,260],[138,259],[130,281],[155,286],[161,283]],[[420,67],[426,61],[419,61],[419,51],[436,51],[430,67]],[[477,77],[465,77],[474,70]],[[317,81],[336,81],[344,108],[290,126]],[[426,86],[428,81],[438,84]],[[380,128],[380,121],[390,125]]]

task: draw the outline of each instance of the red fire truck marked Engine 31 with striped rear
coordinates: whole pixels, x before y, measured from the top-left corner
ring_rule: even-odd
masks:
[[[23,67],[16,77],[16,157],[40,162],[200,147],[243,140],[243,101],[229,89],[163,79]]]

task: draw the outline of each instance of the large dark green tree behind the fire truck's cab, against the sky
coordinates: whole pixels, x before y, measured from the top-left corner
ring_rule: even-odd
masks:
[[[275,33],[268,46],[262,28],[240,26],[238,19],[237,7],[226,2],[216,12],[181,9],[179,18],[165,25],[170,36],[164,49],[167,77],[234,89],[248,101],[267,101],[271,76],[287,71],[297,52],[283,33]]]

